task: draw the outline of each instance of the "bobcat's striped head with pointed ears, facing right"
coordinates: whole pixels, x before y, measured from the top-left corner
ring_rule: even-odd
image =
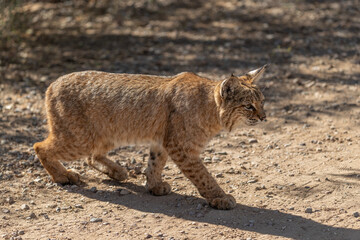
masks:
[[[216,102],[219,107],[221,125],[228,131],[241,123],[253,126],[266,119],[264,95],[254,85],[268,65],[236,77],[231,75],[218,86]]]

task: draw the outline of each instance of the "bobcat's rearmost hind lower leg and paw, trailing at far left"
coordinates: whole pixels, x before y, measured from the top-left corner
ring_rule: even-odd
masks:
[[[81,184],[80,175],[72,170],[67,170],[59,162],[59,159],[66,161],[76,160],[79,157],[78,154],[69,153],[66,147],[60,146],[51,138],[35,143],[34,149],[53,182],[60,184]]]

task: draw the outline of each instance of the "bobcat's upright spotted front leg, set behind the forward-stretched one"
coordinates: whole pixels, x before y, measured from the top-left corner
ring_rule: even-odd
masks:
[[[149,192],[156,196],[162,196],[171,192],[171,187],[161,179],[161,172],[165,166],[168,154],[160,145],[151,145],[148,167],[146,169],[146,187]]]

